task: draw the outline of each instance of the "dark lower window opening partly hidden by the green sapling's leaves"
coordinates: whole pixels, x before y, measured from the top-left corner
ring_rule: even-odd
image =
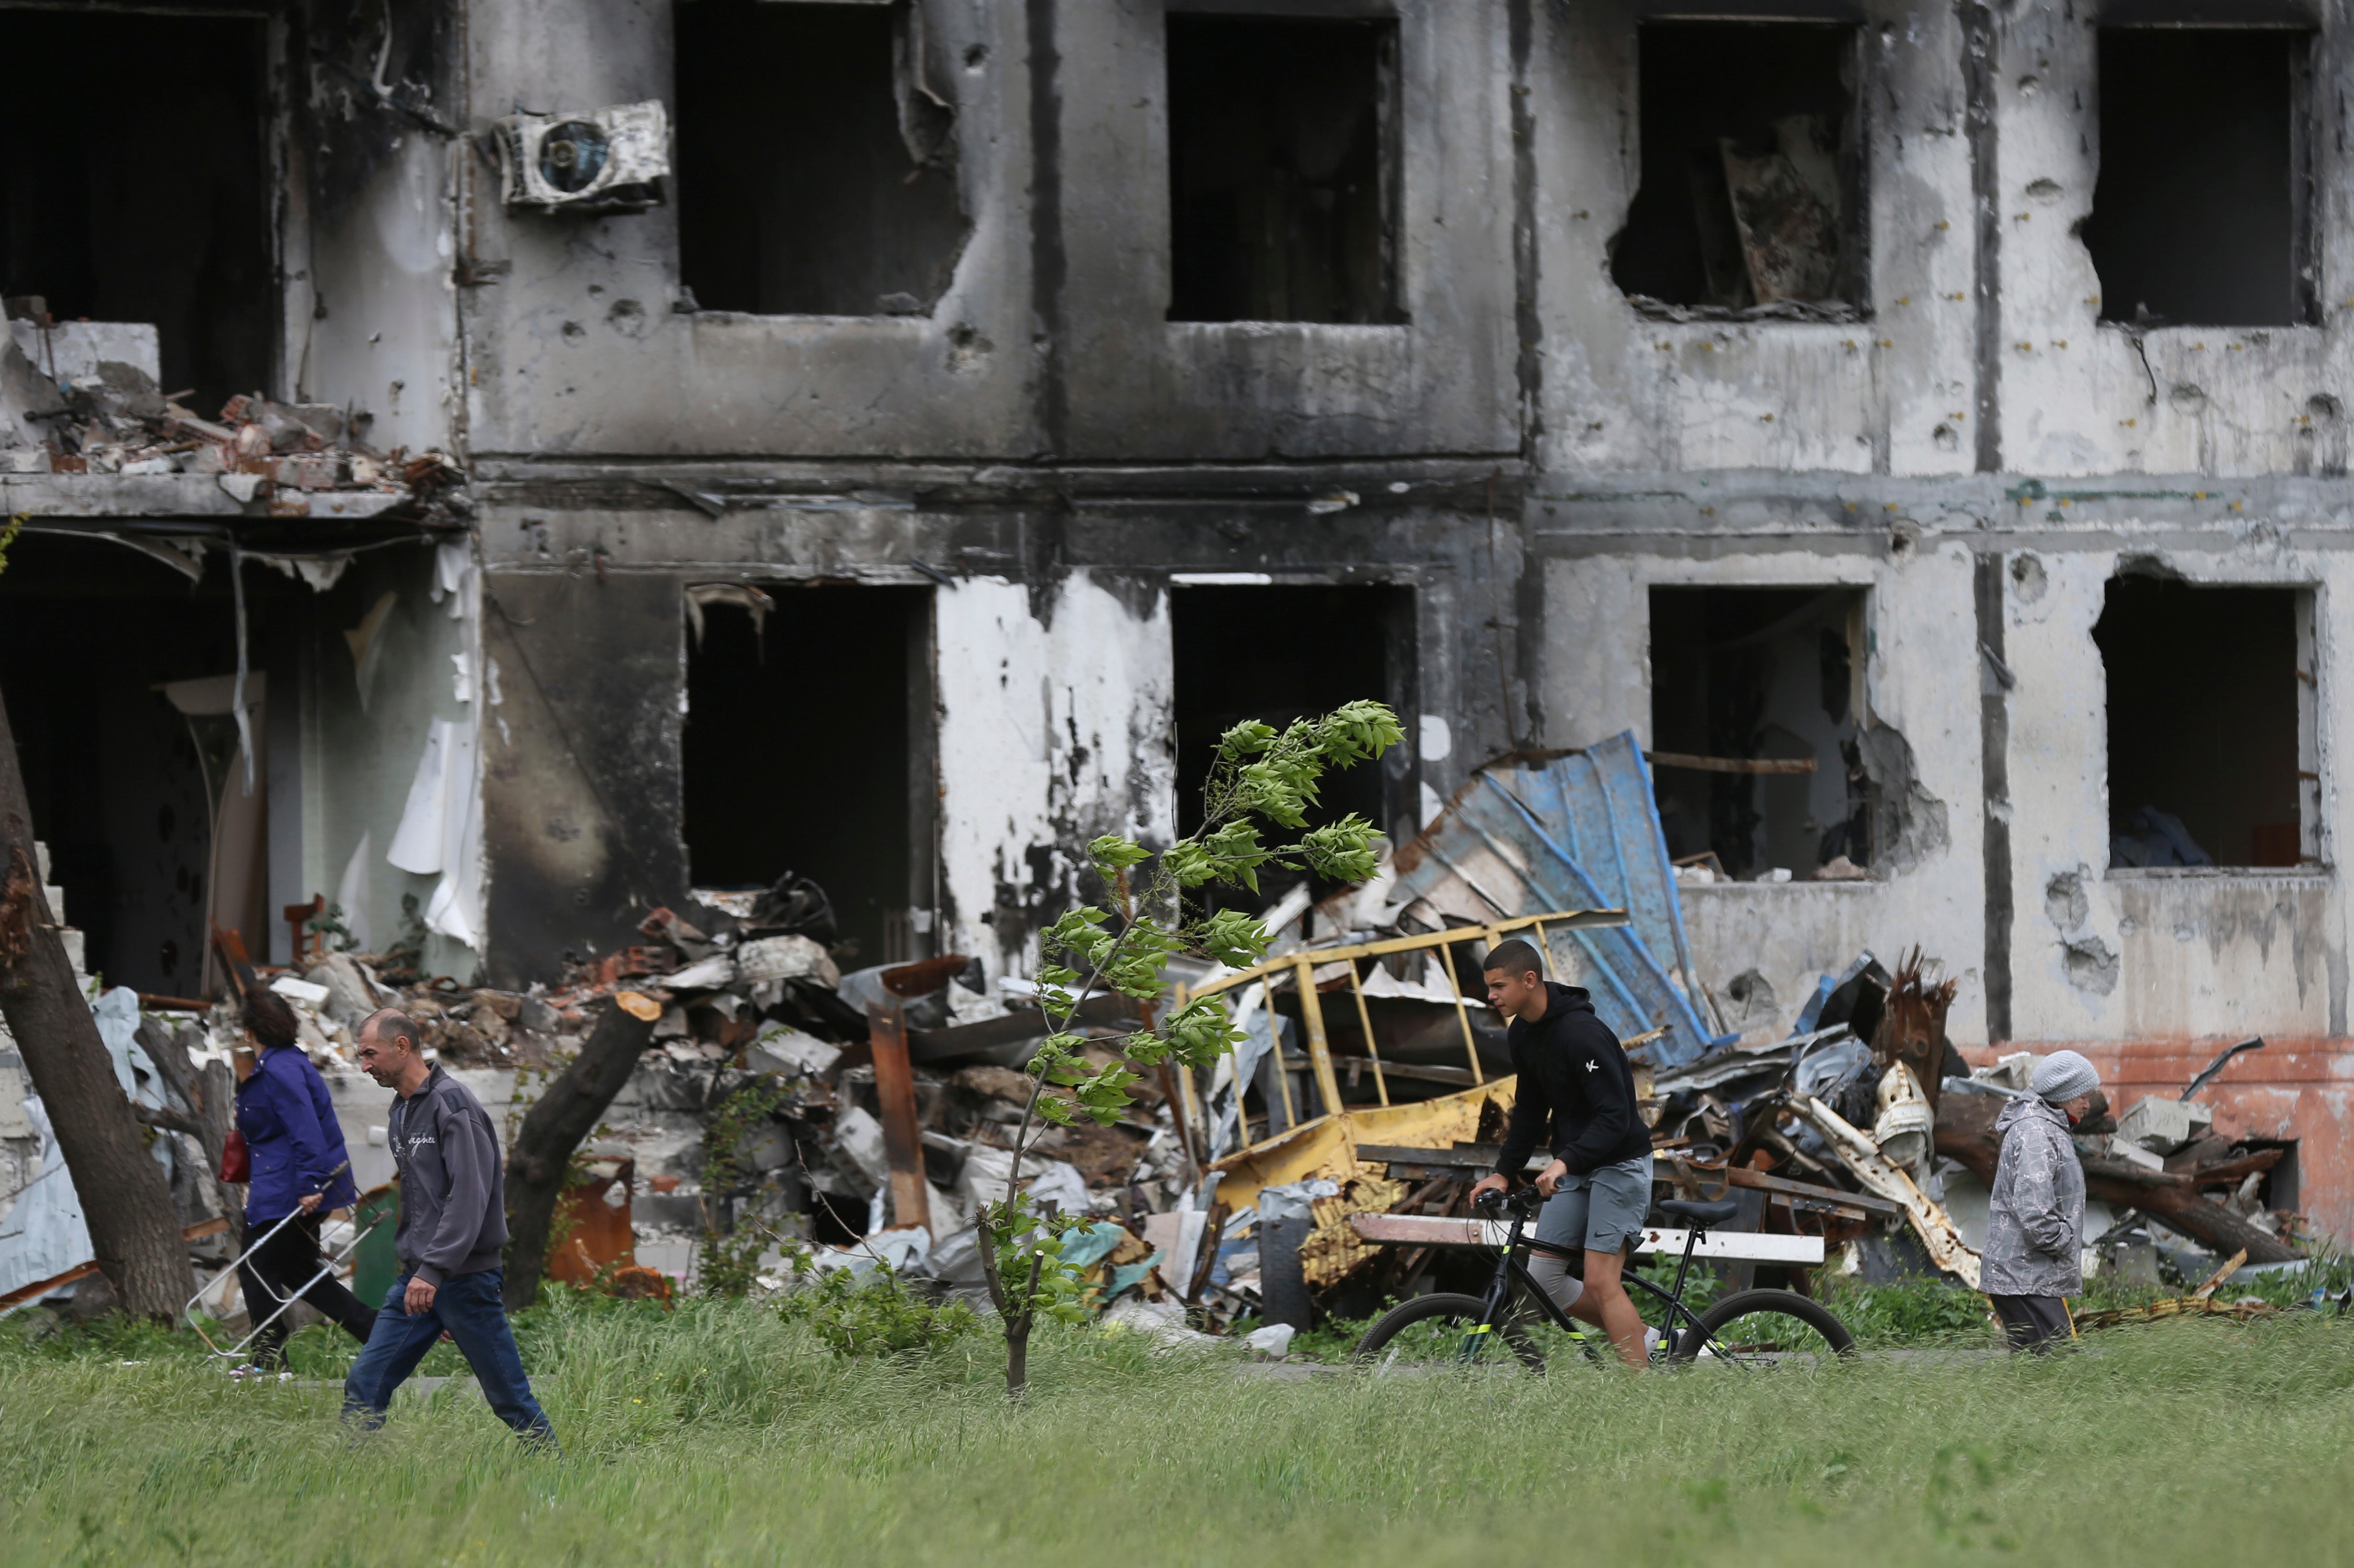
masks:
[[[1245,719],[1285,726],[1332,712],[1342,703],[1389,703],[1412,731],[1415,712],[1415,595],[1410,588],[1266,585],[1170,590],[1170,644],[1177,717],[1177,830],[1201,827],[1201,788],[1217,755],[1217,738]],[[1321,806],[1309,823],[1332,823],[1351,811],[1396,835],[1412,820],[1415,771],[1391,750],[1384,762],[1361,762],[1325,773]],[[1257,914],[1304,872],[1264,867],[1259,891],[1233,891],[1217,903]],[[1335,891],[1318,882],[1316,896]]]

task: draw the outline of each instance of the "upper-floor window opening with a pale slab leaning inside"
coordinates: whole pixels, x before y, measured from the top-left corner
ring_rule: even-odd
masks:
[[[1610,275],[1664,306],[1862,303],[1855,28],[1645,21],[1641,186]]]

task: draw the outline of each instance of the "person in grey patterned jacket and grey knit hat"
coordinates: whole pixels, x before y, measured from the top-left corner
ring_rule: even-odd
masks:
[[[2093,1063],[2053,1051],[2036,1063],[2029,1093],[1994,1119],[2003,1159],[1994,1166],[1977,1284],[2010,1349],[2041,1354],[2076,1333],[2062,1300],[2083,1293],[2083,1164],[2069,1128],[2093,1107],[2095,1088]]]

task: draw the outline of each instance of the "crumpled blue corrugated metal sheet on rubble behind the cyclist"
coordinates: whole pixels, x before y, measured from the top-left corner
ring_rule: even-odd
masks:
[[[1657,957],[1664,952],[1681,964],[1683,919],[1648,785],[1631,738],[1596,762],[1563,757],[1542,769],[1481,773],[1401,851],[1394,898],[1429,898],[1445,914],[1481,917],[1485,910],[1488,919],[1627,907],[1636,924],[1547,936],[1556,947],[1577,945],[1580,969],[1594,980],[1594,1011],[1612,1032],[1667,1027],[1643,1056],[1671,1067],[1725,1041],[1709,1034],[1690,994]],[[1608,886],[1594,875],[1596,865]]]

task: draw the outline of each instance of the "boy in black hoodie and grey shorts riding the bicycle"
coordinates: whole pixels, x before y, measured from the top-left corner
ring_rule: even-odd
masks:
[[[1594,1001],[1577,985],[1544,980],[1537,950],[1511,938],[1488,950],[1488,1006],[1511,1018],[1511,1067],[1521,1074],[1495,1171],[1471,1201],[1502,1192],[1528,1166],[1540,1138],[1554,1164],[1537,1175],[1547,1197],[1540,1246],[1584,1248],[1584,1284],[1556,1253],[1535,1253],[1528,1272],[1556,1307],[1601,1326],[1627,1366],[1648,1366],[1643,1316],[1620,1267],[1627,1241],[1650,1213],[1650,1128],[1636,1114],[1634,1070]],[[1549,1133],[1549,1135],[1547,1135]]]

